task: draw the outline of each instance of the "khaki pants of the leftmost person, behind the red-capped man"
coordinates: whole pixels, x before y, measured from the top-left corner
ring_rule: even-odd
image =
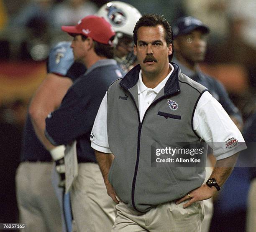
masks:
[[[16,173],[16,193],[23,231],[61,232],[61,212],[51,184],[53,162],[22,162]]]

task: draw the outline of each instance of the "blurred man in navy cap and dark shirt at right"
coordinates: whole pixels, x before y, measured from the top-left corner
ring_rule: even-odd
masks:
[[[207,46],[207,34],[210,29],[200,20],[188,16],[179,18],[173,27],[175,56],[173,62],[177,63],[181,72],[192,78],[194,81],[207,87],[213,97],[223,106],[236,126],[241,129],[242,118],[238,109],[225,91],[224,86],[205,73],[202,73],[199,63],[204,61]],[[207,160],[209,162],[209,159]],[[212,169],[210,163],[207,165],[206,179],[210,176]],[[205,218],[202,223],[202,231],[208,231],[213,212],[212,199],[204,201]]]

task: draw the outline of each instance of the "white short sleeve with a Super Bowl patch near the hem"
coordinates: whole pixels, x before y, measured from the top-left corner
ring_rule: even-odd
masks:
[[[217,160],[246,149],[241,132],[220,103],[206,91],[199,99],[193,129],[210,147]]]

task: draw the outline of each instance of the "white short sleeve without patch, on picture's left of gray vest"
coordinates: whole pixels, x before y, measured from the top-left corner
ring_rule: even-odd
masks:
[[[102,102],[100,103],[100,108],[95,118],[90,137],[91,137],[91,147],[93,149],[104,152],[104,153],[112,153],[108,145],[107,95],[108,95],[108,92],[106,92],[104,98],[102,99]]]

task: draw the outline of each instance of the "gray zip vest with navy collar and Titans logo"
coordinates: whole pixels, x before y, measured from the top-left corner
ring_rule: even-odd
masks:
[[[202,163],[193,167],[154,163],[156,148],[177,148],[180,142],[201,141],[193,131],[192,119],[207,89],[172,65],[174,72],[142,122],[138,111],[139,65],[108,89],[108,141],[115,156],[108,178],[122,201],[139,212],[183,197],[205,179]]]

